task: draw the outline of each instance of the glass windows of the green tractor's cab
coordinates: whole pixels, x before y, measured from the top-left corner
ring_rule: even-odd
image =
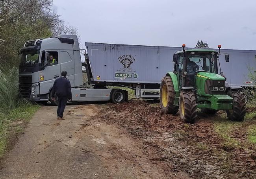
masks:
[[[180,55],[178,71],[182,71],[184,56]],[[186,54],[187,74],[195,74],[198,70],[210,73],[217,73],[217,54],[215,52],[198,53],[189,52]]]

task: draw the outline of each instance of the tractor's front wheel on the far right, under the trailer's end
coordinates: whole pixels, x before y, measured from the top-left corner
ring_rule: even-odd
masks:
[[[245,119],[246,97],[244,92],[230,91],[229,96],[233,98],[233,109],[226,111],[228,119],[232,121],[242,121]]]

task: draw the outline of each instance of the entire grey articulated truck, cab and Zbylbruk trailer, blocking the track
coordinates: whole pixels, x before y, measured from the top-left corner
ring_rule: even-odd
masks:
[[[20,95],[32,101],[52,101],[52,85],[61,71],[67,71],[74,101],[108,101],[121,103],[127,99],[122,89],[128,87],[137,98],[159,98],[161,78],[173,68],[172,56],[180,47],[102,44],[85,42],[87,54],[81,62],[76,35],[59,35],[25,42],[20,50]],[[189,48],[188,48],[189,49]],[[214,50],[214,49],[213,49]],[[256,51],[222,50],[230,63],[219,58],[230,86],[253,85],[247,78],[251,66],[256,66]],[[50,59],[55,59],[55,62]],[[239,64],[239,65],[238,65]],[[82,70],[85,66],[86,70]],[[83,72],[92,88],[83,86]],[[239,72],[239,74],[237,73]]]

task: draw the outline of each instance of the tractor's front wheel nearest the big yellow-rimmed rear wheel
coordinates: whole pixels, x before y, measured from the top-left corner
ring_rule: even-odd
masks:
[[[195,94],[192,91],[180,92],[180,117],[185,123],[193,124],[197,118],[197,104]]]

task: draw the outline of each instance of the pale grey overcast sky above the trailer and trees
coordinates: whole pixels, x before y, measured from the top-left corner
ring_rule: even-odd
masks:
[[[256,0],[54,0],[81,41],[256,50]]]

